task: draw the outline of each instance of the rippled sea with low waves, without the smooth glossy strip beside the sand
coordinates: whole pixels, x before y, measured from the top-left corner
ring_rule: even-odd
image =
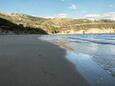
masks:
[[[110,76],[115,76],[115,35],[56,35],[42,36],[41,39],[59,42],[64,41],[68,46],[74,48],[76,55],[89,55],[88,58],[105,70]],[[81,58],[81,56],[77,56]],[[85,60],[88,63],[89,59]]]

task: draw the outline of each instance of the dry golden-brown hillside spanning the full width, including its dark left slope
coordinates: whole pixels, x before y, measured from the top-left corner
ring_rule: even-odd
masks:
[[[3,19],[11,26],[3,24]],[[112,20],[88,20],[88,19],[46,19],[34,17],[20,13],[0,13],[0,30],[15,33],[48,33],[48,34],[95,34],[95,33],[115,33],[115,21]],[[22,29],[23,28],[23,29]],[[29,29],[28,29],[29,28]],[[42,32],[40,32],[42,31]]]

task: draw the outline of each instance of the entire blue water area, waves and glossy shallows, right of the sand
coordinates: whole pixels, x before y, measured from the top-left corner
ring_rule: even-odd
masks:
[[[54,43],[63,41],[72,47],[74,51],[67,52],[67,59],[78,67],[83,76],[91,82],[96,81],[93,84],[108,86],[103,83],[115,81],[114,34],[56,35],[42,36],[41,39]]]

